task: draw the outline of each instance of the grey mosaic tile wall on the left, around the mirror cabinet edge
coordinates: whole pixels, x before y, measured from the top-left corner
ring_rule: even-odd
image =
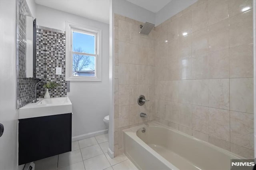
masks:
[[[17,108],[34,99],[36,79],[26,78],[26,16],[32,16],[25,0],[17,1]]]

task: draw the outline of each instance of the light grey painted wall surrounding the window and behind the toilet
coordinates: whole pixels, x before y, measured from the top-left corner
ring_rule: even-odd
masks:
[[[102,81],[70,81],[68,97],[74,113],[72,136],[79,136],[106,129],[103,119],[109,109],[109,25],[36,5],[36,22],[39,26],[66,30],[66,20],[102,29]]]

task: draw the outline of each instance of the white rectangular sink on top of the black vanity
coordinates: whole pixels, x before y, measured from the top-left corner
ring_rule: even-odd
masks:
[[[68,97],[53,97],[39,99],[36,103],[28,103],[19,109],[18,119],[60,115],[72,113],[72,103]]]

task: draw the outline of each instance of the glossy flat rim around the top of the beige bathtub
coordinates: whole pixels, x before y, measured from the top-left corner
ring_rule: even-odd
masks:
[[[158,160],[161,160],[163,161],[164,164],[166,164],[166,166],[169,166],[170,168],[173,168],[173,169],[178,169],[176,166],[174,166],[173,164],[171,164],[168,160],[166,160],[163,156],[161,156],[158,152],[156,152],[155,150],[153,150],[150,146],[148,146],[148,144],[146,144],[142,139],[140,139],[138,136],[137,136],[137,131],[140,129],[140,128],[143,128],[143,127],[162,127],[162,128],[166,128],[168,130],[172,130],[173,132],[176,132],[176,133],[179,133],[183,136],[186,136],[192,140],[196,140],[197,142],[200,142],[202,144],[205,144],[206,146],[208,147],[211,147],[213,149],[216,149],[218,150],[219,152],[222,152],[224,154],[227,154],[228,156],[230,156],[231,159],[246,159],[240,155],[237,155],[237,154],[234,154],[228,150],[224,150],[223,148],[220,148],[218,146],[215,146],[214,144],[211,144],[209,142],[206,142],[204,140],[201,140],[201,139],[198,139],[194,136],[190,136],[189,134],[186,134],[184,132],[181,132],[177,129],[174,129],[172,127],[168,127],[166,125],[163,125],[162,123],[159,123],[159,122],[151,122],[151,123],[146,123],[146,124],[143,124],[143,125],[138,125],[136,127],[132,127],[132,128],[128,128],[128,129],[125,129],[123,130],[123,133],[126,133],[128,136],[130,136],[132,139],[134,139],[135,142],[137,142],[138,144],[140,144],[140,146],[144,147],[146,150],[148,150],[148,152],[152,153]]]

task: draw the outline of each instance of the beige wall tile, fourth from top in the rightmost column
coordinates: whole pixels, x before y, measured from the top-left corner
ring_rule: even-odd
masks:
[[[230,110],[253,113],[253,78],[230,79]]]

